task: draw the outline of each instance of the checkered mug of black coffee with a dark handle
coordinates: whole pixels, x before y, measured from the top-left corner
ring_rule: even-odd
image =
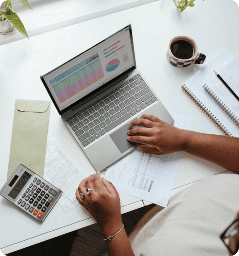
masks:
[[[206,56],[198,53],[198,46],[192,38],[176,36],[169,42],[167,60],[176,67],[203,64]]]

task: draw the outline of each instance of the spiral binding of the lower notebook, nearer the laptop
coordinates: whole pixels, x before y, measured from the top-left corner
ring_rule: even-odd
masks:
[[[216,116],[213,113],[211,113],[210,110],[208,108],[206,108],[206,106],[201,101],[199,101],[198,98],[194,94],[192,94],[191,90],[189,90],[185,84],[182,85],[182,89],[210,117],[210,119],[212,119],[216,123],[216,125],[218,125],[218,127],[226,135],[233,137],[233,135],[226,129],[226,127],[224,127],[224,125],[222,125],[222,123],[216,118]]]

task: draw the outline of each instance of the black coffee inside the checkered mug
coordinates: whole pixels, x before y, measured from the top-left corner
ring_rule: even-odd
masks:
[[[171,45],[171,52],[176,58],[183,60],[190,59],[194,54],[192,44],[184,40],[174,42]]]

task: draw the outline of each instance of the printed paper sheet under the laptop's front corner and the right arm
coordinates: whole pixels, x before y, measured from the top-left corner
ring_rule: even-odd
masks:
[[[192,119],[170,113],[174,125],[190,129]],[[117,191],[166,207],[181,160],[181,152],[150,155],[138,150],[124,156],[101,174]]]

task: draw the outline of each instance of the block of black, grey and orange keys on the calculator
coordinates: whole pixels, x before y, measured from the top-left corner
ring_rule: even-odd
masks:
[[[17,204],[28,210],[30,214],[34,214],[37,219],[41,219],[42,215],[50,210],[52,201],[57,195],[58,192],[55,189],[35,177]]]

